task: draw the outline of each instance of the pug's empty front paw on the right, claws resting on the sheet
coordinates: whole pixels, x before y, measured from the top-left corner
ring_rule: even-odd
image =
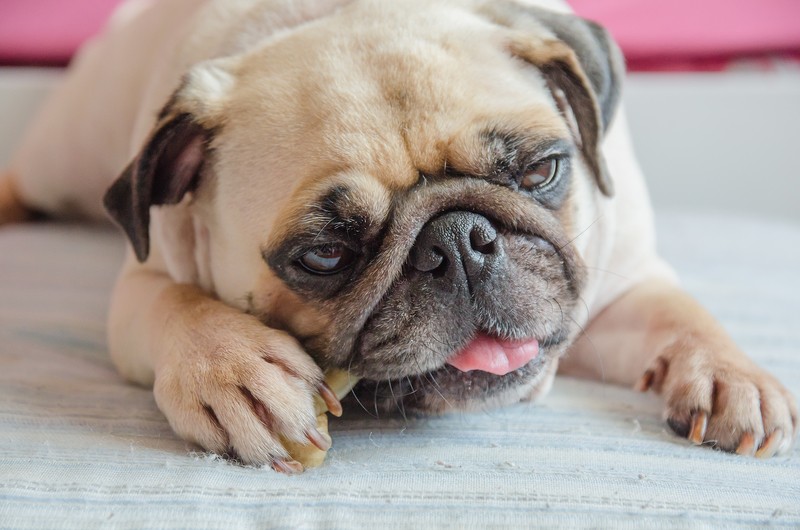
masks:
[[[666,401],[678,435],[742,455],[786,453],[797,435],[797,405],[770,374],[740,352],[727,357],[687,338],[667,347],[637,383]]]

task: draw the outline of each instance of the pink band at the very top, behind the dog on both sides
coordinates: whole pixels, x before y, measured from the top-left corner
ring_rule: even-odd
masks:
[[[611,30],[634,70],[716,68],[743,54],[800,55],[800,0],[569,1]],[[66,63],[119,3],[0,0],[0,64]]]

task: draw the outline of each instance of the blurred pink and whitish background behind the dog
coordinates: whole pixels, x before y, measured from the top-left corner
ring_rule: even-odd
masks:
[[[0,0],[0,167],[120,3]],[[569,3],[625,54],[625,104],[657,210],[800,222],[800,0]]]

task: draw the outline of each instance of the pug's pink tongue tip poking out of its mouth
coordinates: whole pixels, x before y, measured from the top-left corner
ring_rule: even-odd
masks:
[[[500,340],[480,334],[460,352],[447,360],[462,372],[481,370],[495,375],[506,375],[522,368],[539,355],[539,341]]]

